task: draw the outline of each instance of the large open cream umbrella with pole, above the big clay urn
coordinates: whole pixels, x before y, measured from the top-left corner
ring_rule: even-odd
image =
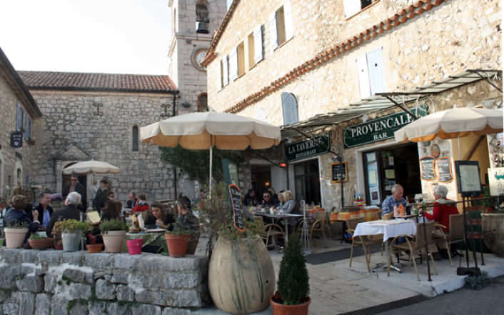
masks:
[[[210,150],[210,196],[212,194],[212,148],[221,150],[266,149],[281,141],[280,128],[263,121],[227,113],[193,113],[174,116],[142,127],[146,144],[184,149]]]

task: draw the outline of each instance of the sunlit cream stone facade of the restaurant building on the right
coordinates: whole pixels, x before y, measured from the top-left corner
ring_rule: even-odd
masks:
[[[361,100],[356,61],[376,49],[383,56],[383,81],[388,92],[409,91],[464,69],[502,68],[499,1],[376,1],[349,17],[345,16],[343,1],[235,2],[236,9],[204,61],[208,69],[208,104],[216,111],[248,117],[264,111],[268,123],[282,126],[283,92],[296,96],[298,121],[356,103]],[[293,37],[272,49],[273,24],[268,21],[287,3],[291,6]],[[260,25],[263,60],[221,88],[221,60]],[[499,79],[494,82],[501,86]],[[463,91],[445,91],[432,96],[431,113],[460,104],[500,106],[495,100],[502,94],[485,82],[460,89]],[[386,114],[390,112],[371,116]],[[333,126],[336,132],[331,131],[333,148],[348,161],[351,180],[345,184],[347,194],[351,188],[354,192],[366,190],[361,151],[396,144],[388,140],[343,149],[343,127],[359,122],[361,119],[354,119]],[[443,148],[445,154],[453,157],[451,145]],[[418,150],[419,154],[423,151],[421,144]],[[331,183],[332,157],[332,154],[323,154],[316,158],[323,206],[329,209],[339,207],[341,200],[340,185]],[[430,184],[423,185],[423,190],[428,193],[432,188]]]

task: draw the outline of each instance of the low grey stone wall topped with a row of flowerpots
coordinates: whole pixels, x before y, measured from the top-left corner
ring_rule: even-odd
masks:
[[[2,314],[181,315],[208,300],[203,256],[1,248],[0,259]]]

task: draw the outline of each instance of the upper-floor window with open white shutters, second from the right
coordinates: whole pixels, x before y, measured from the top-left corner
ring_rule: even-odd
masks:
[[[291,21],[291,2],[288,1],[278,9],[268,19],[268,29],[270,31],[270,48],[276,49],[293,36]]]

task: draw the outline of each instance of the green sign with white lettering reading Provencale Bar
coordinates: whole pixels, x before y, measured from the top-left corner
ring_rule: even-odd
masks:
[[[418,118],[427,116],[425,107],[411,110]],[[401,111],[398,114],[383,116],[362,124],[356,124],[343,129],[343,145],[345,149],[362,146],[372,142],[394,137],[394,132],[413,122],[413,116]]]

